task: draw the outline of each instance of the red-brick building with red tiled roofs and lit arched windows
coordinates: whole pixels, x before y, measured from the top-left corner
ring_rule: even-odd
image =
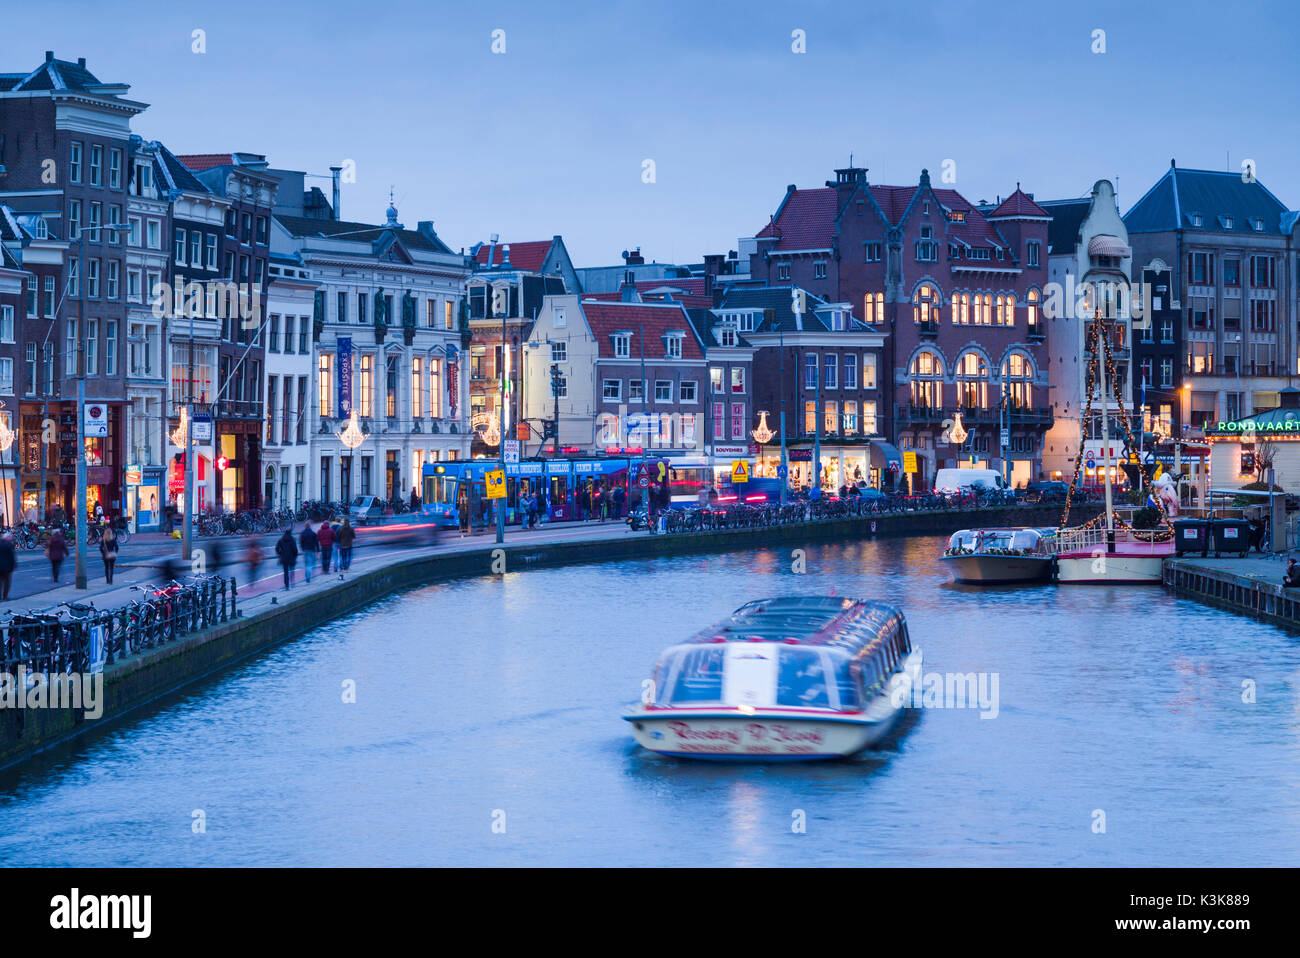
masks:
[[[1048,222],[1019,187],[978,207],[935,188],[926,170],[915,186],[878,186],[866,169],[840,169],[826,187],[786,190],[754,238],[750,276],[850,304],[879,330],[879,430],[918,452],[920,485],[958,461],[1005,467],[1020,484],[1040,474],[1052,422],[1041,317]],[[967,429],[961,447],[942,438],[957,413]]]

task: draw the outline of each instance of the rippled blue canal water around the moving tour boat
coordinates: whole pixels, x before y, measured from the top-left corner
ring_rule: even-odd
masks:
[[[956,586],[941,545],[810,546],[803,575],[772,550],[384,599],[6,773],[0,862],[1300,858],[1300,640],[1158,588]],[[883,747],[806,766],[632,744],[620,710],[663,646],[757,597],[831,591],[900,604],[927,672],[996,675],[996,718],[920,708]]]

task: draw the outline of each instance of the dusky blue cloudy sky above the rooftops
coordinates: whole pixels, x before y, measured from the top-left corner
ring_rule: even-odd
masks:
[[[391,185],[402,220],[452,248],[560,233],[577,265],[633,246],[690,263],[850,152],[878,183],[953,160],[974,201],[1118,177],[1124,212],[1170,157],[1251,157],[1300,207],[1297,25],[1286,3],[49,1],[6,5],[0,70],[84,56],[176,152],[354,160],[347,220],[381,221]]]

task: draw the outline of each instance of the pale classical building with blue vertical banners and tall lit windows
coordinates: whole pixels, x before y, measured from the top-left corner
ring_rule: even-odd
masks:
[[[311,328],[295,333],[312,352],[308,498],[407,498],[424,463],[468,458],[471,268],[433,222],[408,230],[391,205],[381,226],[276,216],[272,246],[317,285]]]

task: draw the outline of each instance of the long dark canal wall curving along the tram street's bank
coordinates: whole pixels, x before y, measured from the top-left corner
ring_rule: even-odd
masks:
[[[1089,512],[1084,512],[1079,519],[1089,516]],[[974,526],[1054,525],[1057,521],[1058,507],[993,507],[829,519],[677,536],[628,534],[599,541],[573,538],[530,543],[526,533],[516,533],[502,546],[485,537],[481,545],[468,550],[434,550],[413,555],[399,552],[394,562],[352,573],[332,582],[328,589],[304,590],[296,597],[277,597],[276,604],[263,604],[256,612],[246,615],[240,611],[213,628],[118,659],[104,669],[103,714],[98,719],[87,719],[83,710],[0,708],[0,768],[21,763],[72,738],[105,729],[113,720],[150,702],[179,692],[242,659],[376,599],[432,582],[620,559],[729,552],[874,537],[940,536]]]

